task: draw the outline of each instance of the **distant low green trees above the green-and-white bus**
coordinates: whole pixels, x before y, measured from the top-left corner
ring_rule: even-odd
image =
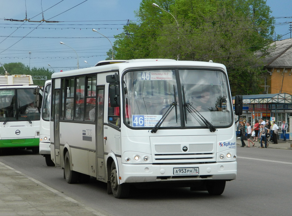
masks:
[[[49,71],[48,69],[44,69],[44,67],[43,68],[36,68],[36,67],[29,68],[28,66],[25,66],[21,62],[11,62],[7,64],[3,64],[3,66],[5,67],[5,69],[10,75],[14,75],[14,74],[31,75],[34,85],[37,85],[37,86],[44,86],[46,82],[46,80],[36,79],[37,76],[46,76],[47,80],[49,80],[51,79],[51,76],[53,74],[52,71]],[[3,67],[0,68],[0,74],[4,75]]]

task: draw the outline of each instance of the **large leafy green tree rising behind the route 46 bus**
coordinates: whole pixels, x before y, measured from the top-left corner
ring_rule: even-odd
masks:
[[[226,65],[233,94],[257,94],[260,52],[272,41],[274,18],[265,0],[142,0],[139,24],[125,26],[114,43],[116,59],[171,58]],[[257,53],[257,55],[255,54]]]

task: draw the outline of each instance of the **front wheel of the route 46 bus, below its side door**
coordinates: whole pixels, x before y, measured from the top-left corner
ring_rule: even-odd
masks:
[[[110,168],[110,184],[115,198],[121,199],[129,196],[130,186],[126,183],[118,184],[117,168],[114,162],[112,162],[112,166]]]

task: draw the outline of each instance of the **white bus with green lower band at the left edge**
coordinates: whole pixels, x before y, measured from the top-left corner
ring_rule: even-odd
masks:
[[[0,151],[26,148],[38,153],[40,112],[36,108],[37,86],[29,86],[33,83],[30,75],[4,75],[0,79]]]

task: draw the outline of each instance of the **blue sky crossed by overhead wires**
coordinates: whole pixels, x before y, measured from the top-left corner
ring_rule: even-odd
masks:
[[[22,62],[30,68],[44,67],[54,72],[76,69],[77,60],[79,68],[94,66],[107,58],[114,35],[123,32],[127,21],[137,21],[134,11],[138,11],[140,2],[0,0],[0,62]],[[290,38],[292,0],[267,0],[267,5],[276,18],[276,35]],[[93,32],[93,28],[100,34]]]

